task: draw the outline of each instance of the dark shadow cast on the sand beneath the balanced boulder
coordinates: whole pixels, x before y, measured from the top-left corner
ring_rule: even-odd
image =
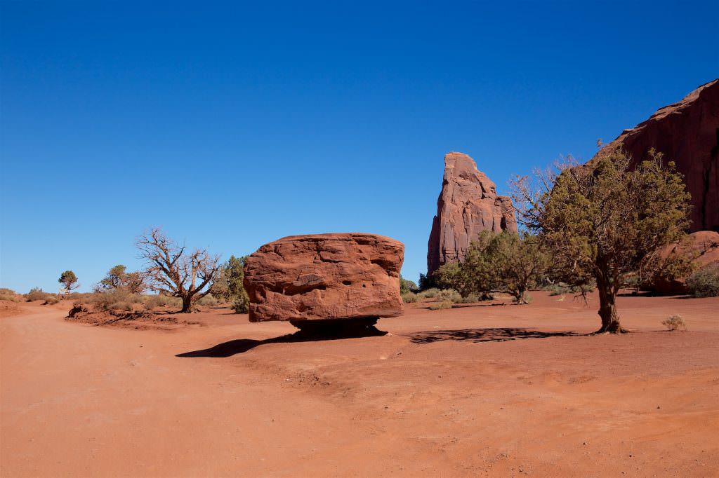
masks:
[[[193,350],[175,355],[175,357],[232,357],[232,355],[242,354],[247,350],[265,344],[290,344],[293,342],[321,342],[324,340],[341,340],[354,339],[358,337],[378,337],[386,335],[387,332],[378,330],[376,327],[367,327],[363,330],[336,330],[332,329],[327,333],[308,332],[306,330],[298,330],[294,334],[287,334],[281,337],[272,337],[271,339],[255,340],[255,339],[236,339],[222,342],[214,345],[209,349]]]

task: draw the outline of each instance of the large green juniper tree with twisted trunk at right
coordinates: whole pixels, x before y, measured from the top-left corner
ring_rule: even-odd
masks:
[[[674,163],[664,167],[661,154],[650,150],[648,161],[632,171],[629,164],[623,151],[614,151],[512,182],[521,223],[551,252],[552,276],[576,286],[596,279],[597,332],[626,332],[616,308],[624,277],[661,245],[682,238],[689,225],[690,195]]]

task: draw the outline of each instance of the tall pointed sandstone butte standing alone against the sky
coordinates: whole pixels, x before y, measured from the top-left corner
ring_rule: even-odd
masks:
[[[477,170],[467,154],[444,156],[444,179],[437,199],[427,251],[427,275],[448,262],[464,259],[472,240],[483,230],[517,231],[512,200],[497,195],[497,187]]]

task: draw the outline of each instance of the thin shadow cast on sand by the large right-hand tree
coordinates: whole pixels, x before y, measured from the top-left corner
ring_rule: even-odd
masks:
[[[580,337],[577,332],[541,332],[539,330],[495,327],[490,329],[428,330],[408,335],[413,344],[431,344],[442,340],[460,342],[503,342],[517,339],[546,339],[549,337]]]

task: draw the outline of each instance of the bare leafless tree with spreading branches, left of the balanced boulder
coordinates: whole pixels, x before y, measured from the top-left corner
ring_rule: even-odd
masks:
[[[186,250],[162,233],[152,228],[135,242],[138,258],[145,259],[147,268],[143,275],[150,282],[150,289],[160,294],[182,299],[182,310],[190,312],[193,302],[210,293],[210,286],[219,275],[219,256],[211,256],[206,249]]]

